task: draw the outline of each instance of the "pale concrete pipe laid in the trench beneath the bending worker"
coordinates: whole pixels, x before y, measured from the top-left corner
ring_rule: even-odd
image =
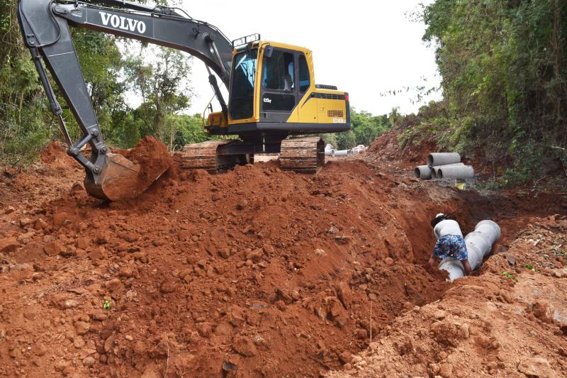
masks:
[[[474,231],[466,235],[466,251],[468,252],[468,263],[474,270],[481,266],[484,257],[490,254],[496,240],[500,239],[502,231],[500,226],[493,221],[479,222]],[[439,263],[439,269],[449,272],[449,281],[465,276],[465,269],[460,261],[446,259]]]

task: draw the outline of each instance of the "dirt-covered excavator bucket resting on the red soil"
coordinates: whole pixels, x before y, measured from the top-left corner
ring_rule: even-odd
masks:
[[[96,182],[87,175],[84,180],[85,189],[88,194],[99,199],[117,201],[133,198],[150,187],[168,168],[163,167],[159,169],[161,172],[153,172],[155,177],[148,179],[141,174],[140,165],[122,155],[109,153]]]

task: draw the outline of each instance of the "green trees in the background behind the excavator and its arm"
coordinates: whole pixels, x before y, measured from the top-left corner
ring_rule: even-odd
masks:
[[[62,139],[30,53],[23,46],[16,4],[0,0],[0,164],[29,162],[50,140]],[[193,96],[186,79],[191,72],[189,55],[89,30],[72,28],[72,35],[108,145],[131,148],[143,136],[153,135],[174,150],[208,140],[201,129],[201,115],[187,114]],[[125,101],[128,96],[141,99],[140,106],[130,108]],[[58,99],[77,140],[77,123],[62,97]],[[368,145],[390,123],[386,116],[353,109],[352,125],[349,133],[327,135],[327,142],[338,148]]]

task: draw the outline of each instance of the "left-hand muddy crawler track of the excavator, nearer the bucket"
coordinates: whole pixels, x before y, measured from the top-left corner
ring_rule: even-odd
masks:
[[[252,162],[248,155],[223,155],[223,148],[240,143],[239,140],[207,140],[203,143],[185,145],[179,152],[181,169],[205,169],[209,173],[222,173],[235,165]]]

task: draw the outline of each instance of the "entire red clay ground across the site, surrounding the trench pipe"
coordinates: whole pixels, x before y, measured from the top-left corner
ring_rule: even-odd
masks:
[[[462,280],[478,280],[486,287],[478,292],[425,269],[434,243],[429,221],[439,211],[457,213],[465,231],[481,218],[499,221],[505,238],[497,248],[517,259],[505,267],[520,277],[515,287],[524,273],[556,282],[559,300],[550,306],[565,314],[565,278],[552,277],[560,256],[520,273],[524,260],[539,260],[513,246],[532,217],[564,214],[564,202],[540,197],[528,206],[462,193],[361,161],[331,162],[315,177],[281,172],[274,162],[218,176],[170,169],[147,193],[113,204],[90,199],[81,181],[81,169],[50,146],[42,165],[0,184],[0,375],[447,377],[455,348],[484,355],[493,348],[473,336],[445,338],[464,332],[455,317],[480,313],[485,296],[499,306],[493,291],[511,285],[491,260],[480,277]],[[563,219],[549,232],[564,233]],[[547,248],[549,240],[561,238],[540,243]],[[520,303],[511,301],[510,308]],[[466,310],[451,310],[457,305]],[[448,330],[430,325],[433,306],[444,308]],[[525,348],[545,352],[549,369],[566,374],[560,323],[533,322],[539,344]],[[483,323],[468,324],[480,337]],[[400,344],[404,335],[412,340]],[[507,366],[520,356],[499,348],[505,368],[495,362],[492,370],[512,372]]]

